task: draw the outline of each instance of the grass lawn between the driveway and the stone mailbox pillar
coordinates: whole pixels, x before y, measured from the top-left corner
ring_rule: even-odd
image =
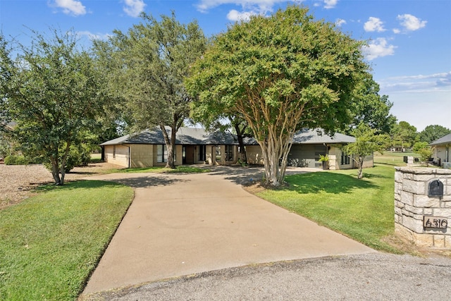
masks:
[[[257,195],[376,250],[397,252],[382,238],[394,233],[393,166],[287,176],[289,187]]]

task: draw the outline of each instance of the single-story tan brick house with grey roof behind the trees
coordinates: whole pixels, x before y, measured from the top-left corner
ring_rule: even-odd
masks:
[[[166,130],[170,135],[171,129]],[[321,168],[319,155],[328,154],[330,169],[353,168],[352,159],[342,152],[341,147],[354,141],[354,137],[340,133],[330,137],[321,129],[299,130],[293,137],[288,165]],[[118,137],[102,143],[101,147],[106,162],[123,167],[165,166],[168,157],[160,128]],[[245,139],[245,147],[249,164],[264,164],[261,148],[256,140]],[[237,137],[231,133],[180,128],[175,135],[175,165],[227,165],[237,163],[239,158]],[[368,159],[366,166],[373,166],[372,157]]]

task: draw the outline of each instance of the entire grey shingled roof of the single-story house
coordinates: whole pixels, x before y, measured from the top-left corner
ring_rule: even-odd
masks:
[[[171,135],[171,129],[166,128],[168,135]],[[326,135],[321,129],[303,129],[297,131],[293,137],[293,144],[335,144],[352,143],[355,138],[335,133],[333,136]],[[254,138],[245,138],[245,145],[257,145]],[[137,135],[125,135],[113,140],[102,143],[101,145],[122,145],[122,144],[146,144],[163,145],[164,138],[160,128],[154,130],[144,130]],[[235,135],[215,131],[206,132],[202,128],[179,128],[175,135],[176,145],[238,145]]]

